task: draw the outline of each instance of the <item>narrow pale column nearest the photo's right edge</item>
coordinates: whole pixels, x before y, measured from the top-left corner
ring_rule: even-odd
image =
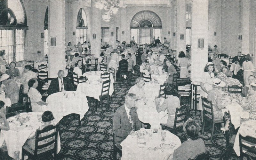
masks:
[[[248,54],[249,51],[249,30],[250,30],[250,0],[242,1],[242,54]]]

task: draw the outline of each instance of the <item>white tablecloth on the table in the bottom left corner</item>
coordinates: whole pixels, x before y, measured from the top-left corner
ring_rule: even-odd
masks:
[[[14,152],[20,151],[20,158],[21,158],[21,150],[22,146],[25,144],[27,139],[32,138],[35,136],[36,129],[43,125],[43,123],[39,122],[37,119],[37,115],[42,115],[43,112],[29,112],[28,116],[30,117],[29,122],[23,123],[28,125],[20,126],[19,121],[13,121],[9,123],[10,130],[5,131],[1,130],[1,145],[3,140],[6,142],[8,155],[14,158]],[[31,127],[30,127],[31,125]],[[57,152],[60,151],[60,135],[58,134],[58,142],[57,142]]]

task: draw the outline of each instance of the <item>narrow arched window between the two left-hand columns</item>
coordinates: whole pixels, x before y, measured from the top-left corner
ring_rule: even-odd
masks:
[[[76,18],[76,43],[87,41],[87,17],[83,8],[80,8]]]

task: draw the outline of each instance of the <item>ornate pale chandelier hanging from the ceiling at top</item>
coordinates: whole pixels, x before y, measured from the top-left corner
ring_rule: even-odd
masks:
[[[125,8],[127,5],[124,3],[124,0],[98,0],[94,6],[102,10],[108,11],[109,15],[113,13],[116,14],[118,11],[118,7]]]

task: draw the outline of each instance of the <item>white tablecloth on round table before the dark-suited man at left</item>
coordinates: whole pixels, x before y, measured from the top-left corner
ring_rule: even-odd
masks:
[[[64,96],[63,92],[57,92],[49,95],[46,99],[48,106],[46,106],[44,110],[51,111],[57,122],[71,113],[80,115],[81,120],[89,109],[86,96],[83,93],[67,91],[67,94],[68,98]]]

